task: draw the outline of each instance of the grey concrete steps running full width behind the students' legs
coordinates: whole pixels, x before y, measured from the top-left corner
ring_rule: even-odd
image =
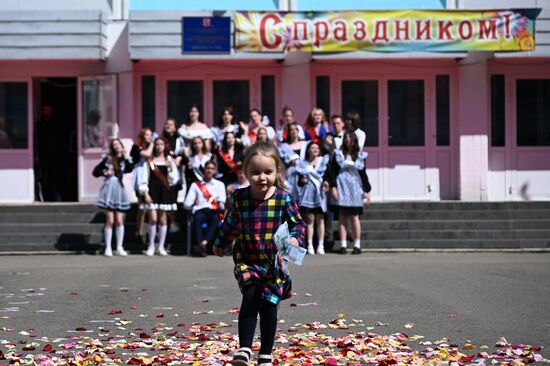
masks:
[[[135,210],[126,216],[125,247],[140,253],[145,246],[134,237]],[[0,252],[100,252],[103,223],[92,204],[3,205]],[[365,249],[550,249],[550,202],[374,203],[361,224]],[[185,229],[181,217],[179,225]],[[337,229],[333,221],[327,249],[339,247]],[[185,252],[185,232],[169,233],[167,241],[174,253]]]

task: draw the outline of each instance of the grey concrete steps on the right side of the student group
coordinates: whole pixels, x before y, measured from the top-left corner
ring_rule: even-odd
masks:
[[[365,249],[550,249],[550,202],[375,203],[361,229]],[[338,249],[337,222],[330,234]]]

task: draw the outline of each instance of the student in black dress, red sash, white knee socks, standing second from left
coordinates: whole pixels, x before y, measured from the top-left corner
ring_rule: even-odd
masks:
[[[158,223],[158,253],[165,256],[168,254],[164,247],[168,232],[167,212],[176,211],[178,208],[171,187],[177,183],[179,176],[176,162],[168,154],[168,143],[163,138],[159,137],[155,140],[153,155],[145,166],[139,187],[149,210],[149,247],[145,254],[148,256],[155,254]]]

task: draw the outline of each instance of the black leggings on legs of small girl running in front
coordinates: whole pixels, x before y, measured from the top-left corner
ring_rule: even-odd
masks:
[[[241,347],[252,347],[258,313],[260,314],[261,348],[260,354],[270,355],[277,331],[277,305],[262,298],[259,284],[242,290],[243,302],[239,312],[239,341]]]

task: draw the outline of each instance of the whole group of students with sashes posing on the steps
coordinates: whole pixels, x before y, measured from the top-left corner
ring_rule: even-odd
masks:
[[[359,216],[363,205],[370,202],[370,184],[363,151],[366,134],[360,125],[357,113],[348,113],[346,118],[333,115],[329,121],[322,109],[314,108],[302,127],[294,111],[285,107],[275,130],[257,109],[250,111],[250,122],[244,123],[236,120],[232,107],[225,107],[210,128],[200,121],[199,108],[192,106],[188,122],[179,128],[173,118],[166,120],[160,135],[143,128],[129,153],[119,139],[112,140],[109,152],[93,171],[94,176],[105,177],[97,200],[98,207],[106,210],[105,255],[113,255],[113,227],[116,253],[127,255],[123,212],[130,203],[122,177],[133,172],[140,241],[148,216],[145,254],[167,255],[168,221],[183,203],[192,217],[194,253],[206,256],[226,213],[228,197],[249,185],[250,172],[243,169],[243,163],[246,153],[259,142],[273,145],[284,163],[281,179],[307,225],[308,253],[325,253],[325,221],[330,220],[330,212],[338,215],[340,253],[347,252],[347,223],[354,239],[352,253],[361,253]]]

